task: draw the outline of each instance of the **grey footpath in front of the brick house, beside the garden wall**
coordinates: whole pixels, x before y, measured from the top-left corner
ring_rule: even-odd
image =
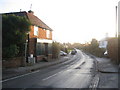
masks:
[[[52,65],[67,62],[67,61],[70,61],[70,59],[72,57],[73,56],[69,54],[67,56],[60,56],[58,59],[52,60],[50,62],[41,61],[39,63],[35,63],[32,66],[3,69],[2,70],[2,80],[12,78],[12,77],[15,77],[15,76],[19,76],[19,75],[23,75],[23,74],[26,74],[26,73],[29,73],[29,72],[32,72],[32,71],[35,71],[35,70],[47,68],[47,67],[52,66]]]

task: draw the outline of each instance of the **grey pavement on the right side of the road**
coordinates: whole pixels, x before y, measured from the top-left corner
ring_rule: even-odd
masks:
[[[98,88],[119,88],[119,66],[108,58],[95,58],[99,75]]]

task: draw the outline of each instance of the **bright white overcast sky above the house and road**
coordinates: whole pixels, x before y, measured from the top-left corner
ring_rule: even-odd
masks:
[[[0,13],[34,11],[53,29],[53,40],[86,43],[115,36],[119,0],[0,0]],[[32,4],[32,6],[31,6]]]

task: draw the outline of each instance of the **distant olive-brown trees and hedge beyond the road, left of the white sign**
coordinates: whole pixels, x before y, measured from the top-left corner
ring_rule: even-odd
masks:
[[[72,50],[73,48],[81,49],[84,52],[91,53],[95,56],[102,57],[105,49],[104,48],[99,48],[99,43],[96,39],[92,39],[91,42],[86,43],[86,44],[81,44],[81,43],[66,43],[68,46],[68,50]]]

